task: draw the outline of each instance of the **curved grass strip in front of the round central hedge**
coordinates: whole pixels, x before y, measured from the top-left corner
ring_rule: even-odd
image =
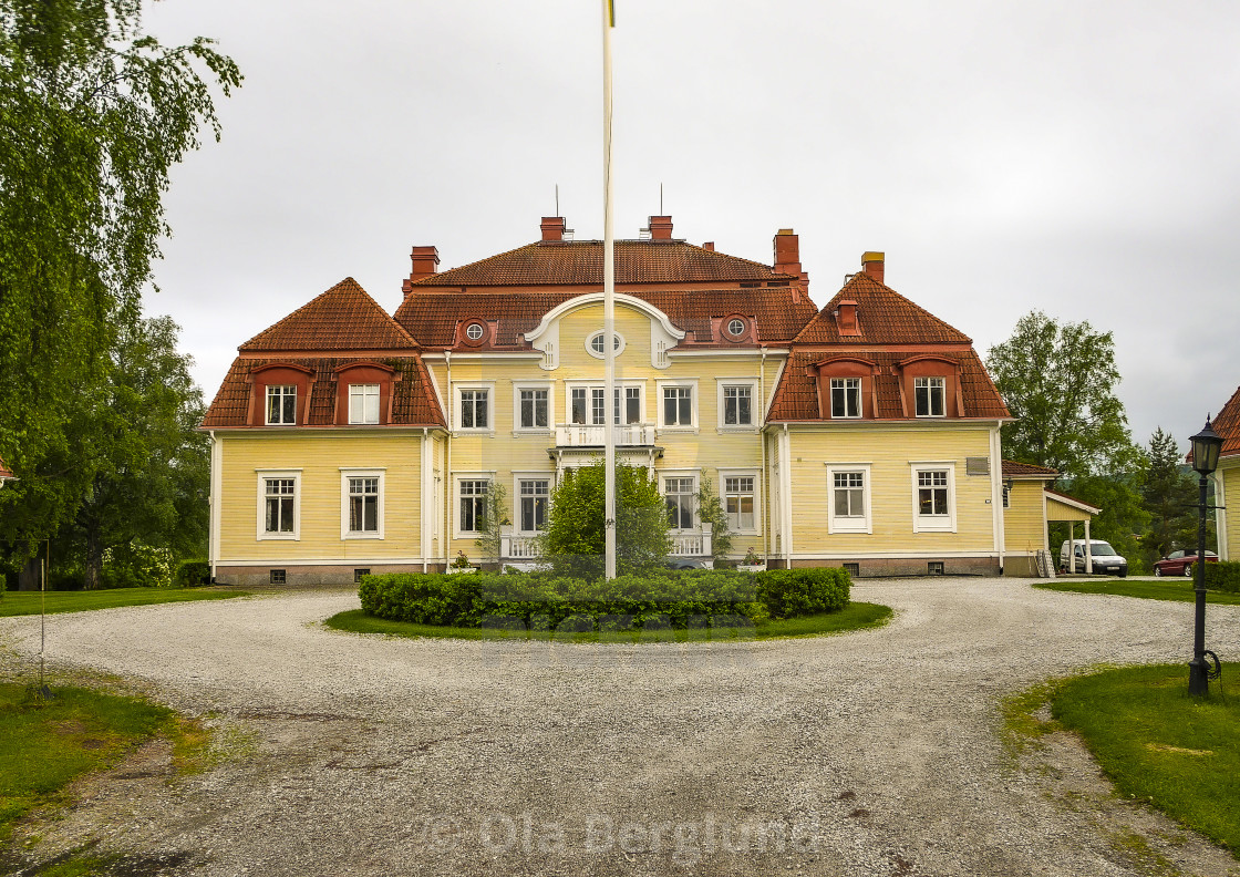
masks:
[[[557,634],[546,630],[494,630],[480,628],[441,628],[430,624],[388,621],[367,615],[361,609],[342,612],[324,624],[334,630],[391,636],[445,636],[453,639],[531,639],[560,643],[698,643],[715,640],[766,640],[784,636],[818,636],[848,630],[879,628],[892,618],[892,608],[877,603],[849,603],[839,612],[807,618],[790,618],[744,628],[696,628],[689,630],[644,630],[626,633]]]

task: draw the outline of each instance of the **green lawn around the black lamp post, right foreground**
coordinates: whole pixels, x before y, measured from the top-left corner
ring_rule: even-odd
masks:
[[[1123,795],[1240,852],[1240,698],[1188,693],[1188,666],[1121,667],[1058,686],[1052,715]]]

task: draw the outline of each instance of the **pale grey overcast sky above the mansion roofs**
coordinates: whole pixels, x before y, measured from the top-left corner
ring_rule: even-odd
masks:
[[[985,356],[1040,309],[1115,334],[1133,438],[1187,449],[1240,383],[1240,4],[616,0],[616,234],[887,283]],[[237,345],[356,278],[603,236],[598,0],[162,0],[246,76],[174,172],[150,314],[210,401]]]

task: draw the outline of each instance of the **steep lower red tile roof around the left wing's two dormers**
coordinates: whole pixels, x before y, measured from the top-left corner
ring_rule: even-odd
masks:
[[[366,357],[312,357],[312,358],[248,358],[238,357],[216,393],[202,425],[206,429],[247,425],[252,385],[246,380],[254,368],[272,362],[291,363],[314,370],[310,391],[309,427],[330,427],[336,412],[335,370],[347,362],[368,362]],[[435,398],[430,377],[422,357],[384,357],[383,363],[394,368],[399,380],[393,386],[392,424],[412,427],[443,427],[443,411]]]

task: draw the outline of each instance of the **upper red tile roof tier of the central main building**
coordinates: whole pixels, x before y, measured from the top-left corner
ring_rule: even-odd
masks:
[[[795,280],[770,265],[740,259],[683,241],[616,241],[616,283],[719,283]],[[542,287],[603,283],[601,241],[539,241],[480,262],[433,274],[423,287]]]

